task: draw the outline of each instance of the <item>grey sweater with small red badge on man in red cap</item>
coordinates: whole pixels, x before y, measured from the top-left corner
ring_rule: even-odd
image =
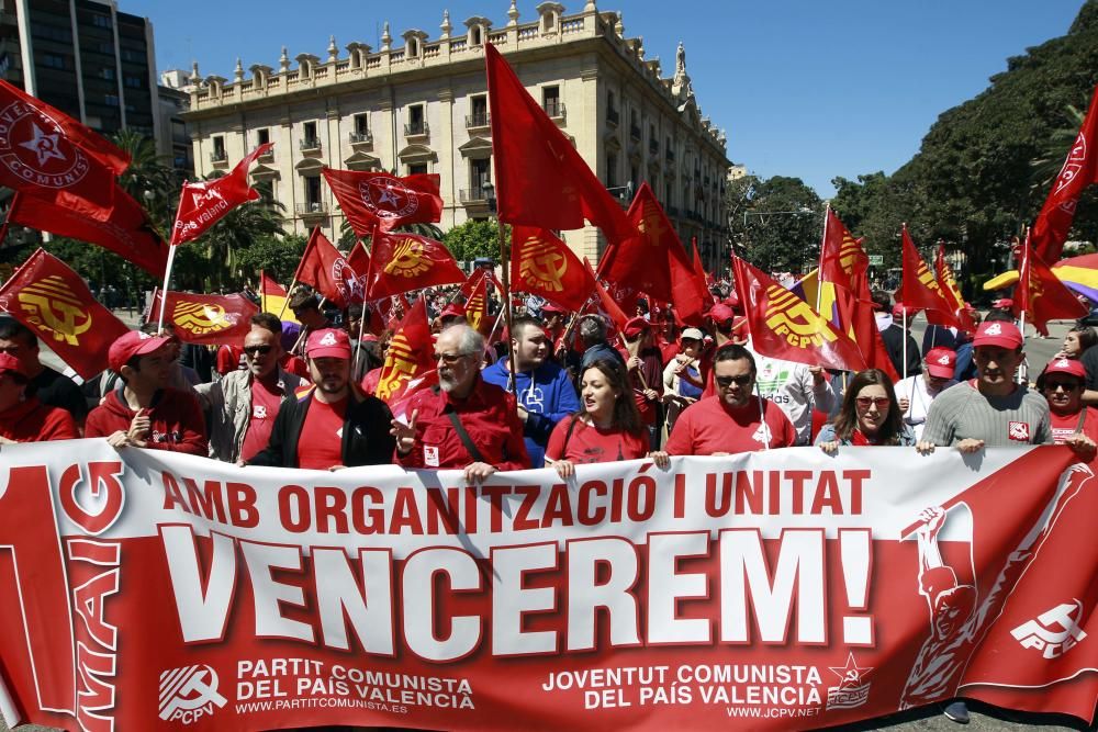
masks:
[[[1051,443],[1049,403],[1021,386],[1007,396],[985,396],[971,383],[946,388],[930,405],[922,440],[946,447],[964,439],[989,448]]]

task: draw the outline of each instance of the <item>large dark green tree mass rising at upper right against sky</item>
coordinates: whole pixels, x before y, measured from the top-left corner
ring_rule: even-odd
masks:
[[[925,254],[939,239],[964,251],[962,281],[972,294],[1005,268],[1010,239],[1040,212],[1096,81],[1098,1],[1088,0],[1067,35],[1007,59],[984,92],[941,114],[895,173],[836,179],[832,206],[886,266],[898,262],[903,222]],[[1098,240],[1093,190],[1079,203],[1072,238]]]

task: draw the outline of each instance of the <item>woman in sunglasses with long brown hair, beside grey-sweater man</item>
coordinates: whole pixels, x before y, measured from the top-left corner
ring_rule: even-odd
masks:
[[[915,432],[904,424],[904,413],[884,371],[869,369],[854,374],[839,414],[820,429],[816,444],[828,454],[834,454],[840,444],[915,444]]]

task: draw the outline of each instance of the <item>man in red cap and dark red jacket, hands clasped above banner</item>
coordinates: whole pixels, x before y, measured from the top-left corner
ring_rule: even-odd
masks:
[[[133,446],[206,454],[205,419],[193,394],[171,388],[176,353],[169,339],[131,330],[107,352],[123,381],[88,415],[85,437],[105,437],[114,448]]]

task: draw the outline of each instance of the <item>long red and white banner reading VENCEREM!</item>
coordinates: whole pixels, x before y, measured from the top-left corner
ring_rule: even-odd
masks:
[[[805,729],[955,696],[1089,720],[1066,448],[500,473],[0,451],[0,711],[67,730]]]

